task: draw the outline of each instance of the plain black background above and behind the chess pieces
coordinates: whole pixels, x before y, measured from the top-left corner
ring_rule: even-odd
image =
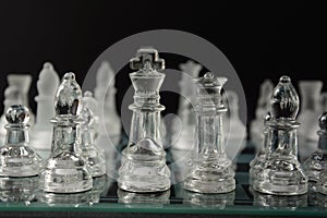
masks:
[[[196,34],[230,60],[245,90],[249,120],[258,86],[288,74],[326,81],[326,8],[312,1],[0,1],[0,102],[8,73],[31,73],[31,107],[45,61],[77,81],[109,46],[132,34],[171,28]],[[178,68],[178,61],[167,61]],[[130,81],[118,82],[118,102]],[[324,87],[326,90],[326,87]],[[175,96],[162,104],[174,110]],[[0,111],[2,111],[2,106]]]

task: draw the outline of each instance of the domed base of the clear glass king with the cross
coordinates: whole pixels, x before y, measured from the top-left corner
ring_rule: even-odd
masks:
[[[170,189],[166,153],[150,138],[125,148],[118,186],[130,192],[162,192]]]

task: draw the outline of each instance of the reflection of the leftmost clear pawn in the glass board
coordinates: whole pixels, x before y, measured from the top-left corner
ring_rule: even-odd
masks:
[[[23,202],[31,204],[35,198],[38,177],[0,177],[0,202]]]

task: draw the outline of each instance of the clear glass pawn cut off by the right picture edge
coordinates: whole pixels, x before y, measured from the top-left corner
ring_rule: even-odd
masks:
[[[310,182],[317,182],[323,170],[327,170],[327,112],[319,117],[318,148],[304,162],[303,169]]]

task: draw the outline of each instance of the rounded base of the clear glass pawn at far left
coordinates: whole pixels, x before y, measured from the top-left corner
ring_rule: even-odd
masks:
[[[0,177],[37,175],[41,158],[25,145],[5,145],[0,148]]]

